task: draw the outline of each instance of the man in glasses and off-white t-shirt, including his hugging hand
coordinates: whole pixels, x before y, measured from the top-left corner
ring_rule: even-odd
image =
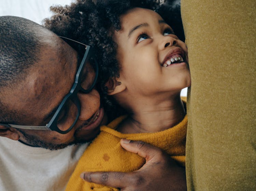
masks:
[[[84,56],[32,21],[0,17],[1,191],[64,190],[86,142],[104,123],[93,89],[93,53],[90,46],[82,47]],[[124,190],[183,189],[180,167],[159,149],[127,140],[121,144],[147,162],[136,172],[103,173],[103,183]]]

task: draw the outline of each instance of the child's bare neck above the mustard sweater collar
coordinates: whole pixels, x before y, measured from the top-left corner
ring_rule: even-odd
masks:
[[[185,115],[183,102],[178,96],[134,111],[116,130],[121,133],[158,132],[177,125]]]

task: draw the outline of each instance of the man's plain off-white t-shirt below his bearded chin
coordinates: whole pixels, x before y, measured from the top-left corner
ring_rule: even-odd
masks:
[[[0,191],[65,190],[87,146],[52,151],[0,137]]]

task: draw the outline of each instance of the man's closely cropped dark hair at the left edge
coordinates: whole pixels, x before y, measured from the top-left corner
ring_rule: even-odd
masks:
[[[10,111],[2,102],[3,90],[12,89],[15,83],[26,77],[27,69],[39,55],[37,28],[39,24],[21,17],[0,17],[0,121],[17,119],[18,114]],[[43,27],[42,27],[43,28]]]

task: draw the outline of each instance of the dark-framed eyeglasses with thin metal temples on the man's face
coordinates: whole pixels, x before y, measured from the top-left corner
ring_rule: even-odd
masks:
[[[4,123],[0,123],[0,125],[3,125],[5,127],[14,127],[18,129],[52,130],[57,131],[61,134],[68,133],[74,127],[81,111],[81,103],[77,97],[77,93],[79,91],[83,93],[89,93],[94,88],[98,78],[99,66],[94,57],[93,47],[74,41],[70,38],[66,38],[63,36],[60,37],[65,41],[71,41],[72,43],[85,46],[85,53],[81,64],[77,70],[75,82],[72,85],[70,92],[63,98],[52,119],[45,126],[24,126]],[[89,62],[95,69],[95,78],[93,80],[93,83],[88,83],[85,81],[85,77],[87,74],[85,64],[87,62]]]

